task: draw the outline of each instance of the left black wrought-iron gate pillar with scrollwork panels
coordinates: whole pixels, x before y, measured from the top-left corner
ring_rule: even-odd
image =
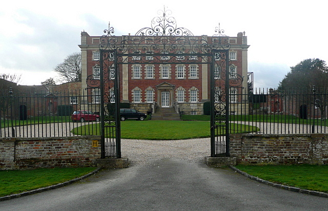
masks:
[[[99,89],[101,158],[121,158],[117,52],[103,47],[99,46],[99,80],[91,75],[87,83],[89,88]]]

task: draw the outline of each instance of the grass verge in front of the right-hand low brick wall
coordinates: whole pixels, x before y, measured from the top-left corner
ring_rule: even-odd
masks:
[[[236,168],[270,182],[328,193],[328,166],[237,165]]]

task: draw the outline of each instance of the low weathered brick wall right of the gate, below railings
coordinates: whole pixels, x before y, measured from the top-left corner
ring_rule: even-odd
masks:
[[[328,134],[232,134],[237,164],[328,164]]]

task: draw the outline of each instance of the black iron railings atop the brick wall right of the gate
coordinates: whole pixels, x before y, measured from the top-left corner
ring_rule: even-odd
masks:
[[[328,132],[326,89],[243,89],[230,92],[230,133]]]

